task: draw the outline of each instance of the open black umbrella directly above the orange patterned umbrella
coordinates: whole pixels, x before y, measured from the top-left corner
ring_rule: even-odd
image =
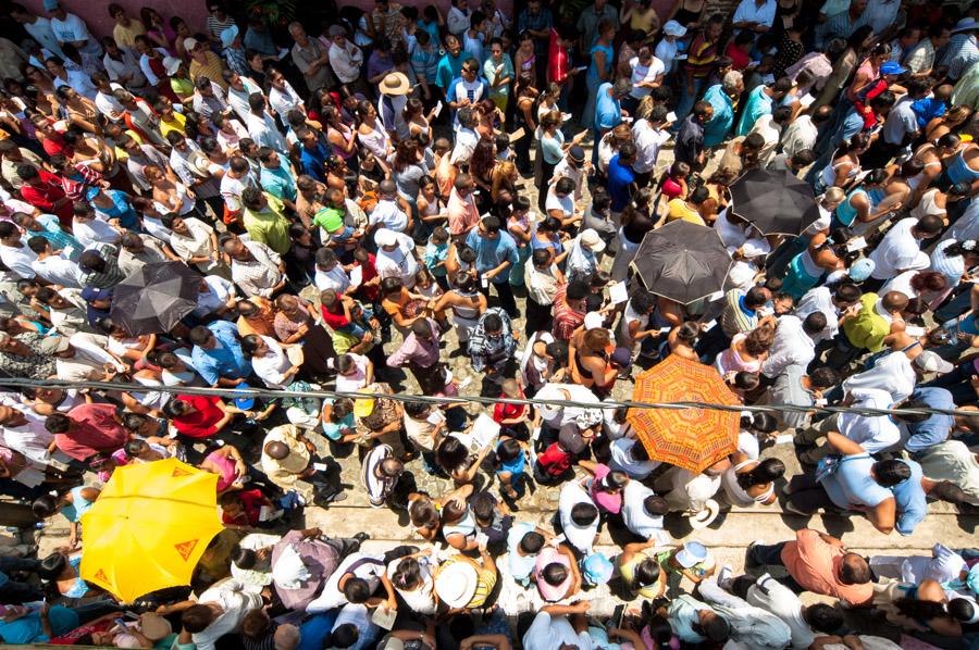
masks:
[[[730,266],[717,230],[680,220],[646,233],[632,261],[646,289],[681,304],[723,289]]]

